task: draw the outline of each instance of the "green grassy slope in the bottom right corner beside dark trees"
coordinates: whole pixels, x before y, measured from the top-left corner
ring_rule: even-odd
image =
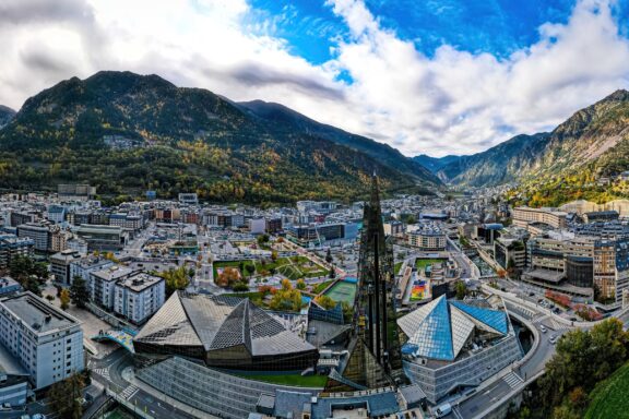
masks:
[[[592,392],[585,419],[629,418],[629,362]]]

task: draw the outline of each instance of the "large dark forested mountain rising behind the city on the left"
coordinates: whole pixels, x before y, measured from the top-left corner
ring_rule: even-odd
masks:
[[[0,129],[0,187],[88,182],[128,199],[193,191],[201,199],[283,203],[364,196],[440,181],[396,149],[260,100],[234,103],[157,75],[104,71],[28,98]]]

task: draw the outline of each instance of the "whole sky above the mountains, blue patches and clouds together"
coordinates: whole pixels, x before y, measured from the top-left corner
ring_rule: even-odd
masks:
[[[0,104],[99,70],[478,153],[629,88],[629,0],[2,0]]]

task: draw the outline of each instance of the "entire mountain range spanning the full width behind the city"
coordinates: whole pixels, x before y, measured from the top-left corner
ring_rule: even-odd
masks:
[[[598,182],[629,169],[629,92],[617,91],[551,132],[466,156],[408,158],[274,103],[236,103],[157,75],[103,71],[0,106],[0,188],[88,182],[119,200],[156,190],[215,202],[352,201],[377,172],[387,193],[519,183],[531,205],[624,196]],[[603,184],[603,185],[602,185]]]

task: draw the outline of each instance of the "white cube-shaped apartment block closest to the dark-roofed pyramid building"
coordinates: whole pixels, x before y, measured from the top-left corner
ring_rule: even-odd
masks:
[[[164,278],[146,273],[120,279],[114,289],[114,311],[135,324],[146,321],[166,299]]]

